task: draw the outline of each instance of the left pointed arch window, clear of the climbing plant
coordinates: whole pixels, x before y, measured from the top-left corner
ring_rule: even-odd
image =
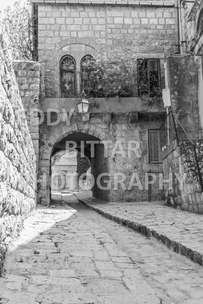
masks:
[[[71,56],[65,56],[60,62],[60,96],[71,98],[76,95],[76,64]]]

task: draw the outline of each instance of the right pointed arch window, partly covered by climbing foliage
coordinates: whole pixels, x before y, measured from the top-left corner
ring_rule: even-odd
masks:
[[[94,67],[95,59],[86,55],[82,58],[80,62],[80,75],[81,75],[81,92],[84,91],[90,97],[95,97],[94,88],[94,79],[96,75],[96,70]]]

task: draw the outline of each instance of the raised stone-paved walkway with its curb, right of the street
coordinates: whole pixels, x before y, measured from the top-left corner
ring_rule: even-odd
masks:
[[[169,208],[164,202],[105,202],[92,192],[75,193],[90,209],[133,230],[155,237],[169,249],[203,266],[203,215]]]

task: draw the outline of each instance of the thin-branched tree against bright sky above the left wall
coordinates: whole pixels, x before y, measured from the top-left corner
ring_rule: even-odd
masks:
[[[14,9],[10,6],[4,10],[5,17],[3,26],[8,36],[8,46],[13,59],[37,60],[36,50],[34,49],[33,40],[37,36],[33,35],[33,17],[31,1],[27,0],[27,5],[21,7],[20,0],[14,3]]]

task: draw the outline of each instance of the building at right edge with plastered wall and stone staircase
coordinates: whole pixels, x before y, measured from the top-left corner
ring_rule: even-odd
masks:
[[[175,115],[168,116],[173,127],[165,121],[161,128],[163,134],[168,129],[168,140],[162,140],[164,176],[173,175],[172,188],[166,185],[166,202],[178,209],[203,213],[203,2],[180,1],[179,21],[180,54],[166,58]],[[176,173],[181,177],[187,173],[183,189],[175,179]]]

